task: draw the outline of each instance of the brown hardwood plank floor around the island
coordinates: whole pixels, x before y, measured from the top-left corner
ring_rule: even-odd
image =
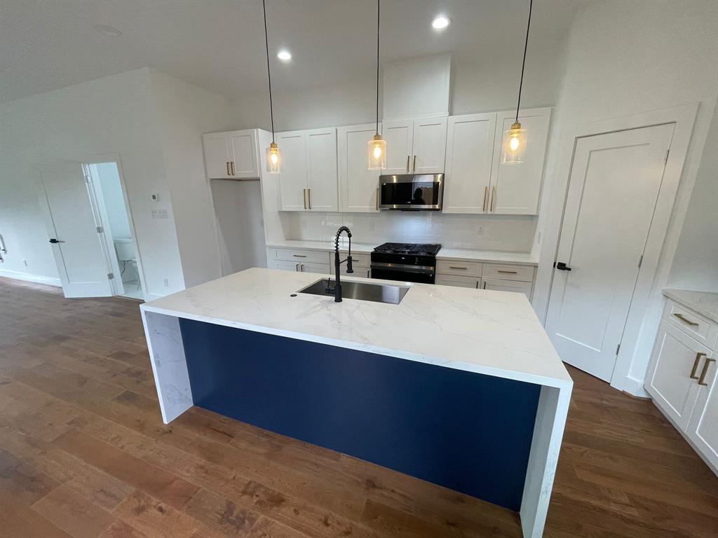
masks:
[[[544,536],[718,536],[718,478],[576,369]],[[138,303],[0,278],[4,538],[520,537],[518,514],[192,409],[162,424]]]

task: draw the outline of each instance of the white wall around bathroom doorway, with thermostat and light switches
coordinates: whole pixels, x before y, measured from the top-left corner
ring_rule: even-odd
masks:
[[[148,69],[3,103],[0,119],[3,274],[57,278],[37,202],[40,166],[119,154],[147,292],[160,296],[184,287]],[[151,201],[153,192],[159,204]],[[153,220],[155,207],[166,208],[169,218]]]

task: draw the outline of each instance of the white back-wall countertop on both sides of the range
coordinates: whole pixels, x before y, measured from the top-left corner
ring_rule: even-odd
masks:
[[[346,250],[346,236],[339,242],[340,248]],[[334,250],[333,241],[303,241],[286,240],[267,244],[269,248],[287,248],[292,250]],[[357,254],[370,254],[376,245],[357,243],[352,241],[352,252]],[[496,250],[465,250],[459,248],[444,248],[439,250],[437,260],[472,260],[477,262],[520,263],[522,265],[538,265],[538,260],[528,253],[502,253]]]

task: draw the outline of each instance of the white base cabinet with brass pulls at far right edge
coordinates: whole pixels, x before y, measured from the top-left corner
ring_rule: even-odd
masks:
[[[673,317],[676,308],[681,310],[679,318]],[[707,341],[698,341],[689,332],[699,324],[706,326],[707,334],[712,335]],[[718,474],[718,395],[714,337],[718,331],[717,325],[668,301],[653,346],[645,390],[653,397],[656,407],[671,420],[713,472]]]

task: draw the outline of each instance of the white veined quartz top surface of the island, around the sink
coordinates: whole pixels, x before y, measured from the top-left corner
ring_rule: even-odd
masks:
[[[552,387],[572,385],[523,293],[406,283],[410,289],[398,305],[335,303],[297,293],[320,278],[252,268],[140,308]]]

